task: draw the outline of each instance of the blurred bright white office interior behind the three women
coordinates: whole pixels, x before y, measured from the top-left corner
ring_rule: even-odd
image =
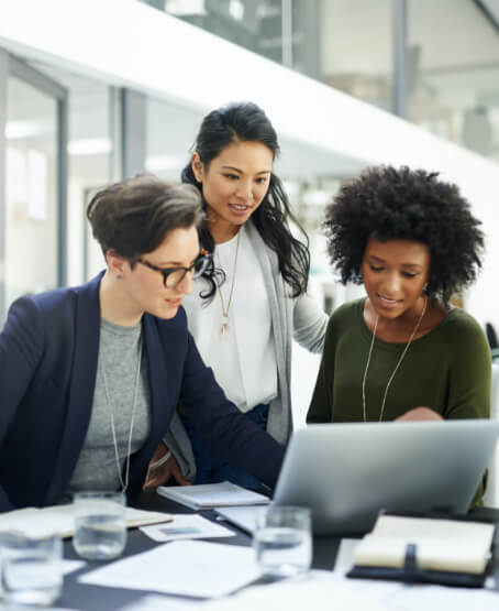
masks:
[[[203,114],[241,99],[278,130],[328,310],[359,290],[328,268],[325,204],[366,165],[406,163],[458,183],[484,221],[484,273],[459,298],[499,328],[499,0],[3,0],[0,320],[102,268],[95,189],[178,179]],[[306,408],[317,359],[297,358]]]

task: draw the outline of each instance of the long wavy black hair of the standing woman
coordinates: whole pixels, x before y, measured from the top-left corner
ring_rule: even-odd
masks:
[[[212,110],[202,120],[193,145],[201,163],[208,168],[232,142],[260,142],[270,149],[276,157],[279,153],[277,134],[268,117],[255,103],[237,102]],[[184,168],[181,179],[196,185],[202,192],[202,184],[196,179],[190,163]],[[203,206],[206,201],[203,200]],[[279,178],[271,173],[269,187],[262,204],[252,215],[253,222],[264,242],[276,252],[279,271],[296,297],[307,291],[310,253],[307,234],[291,212],[290,204]],[[306,243],[297,240],[289,230],[288,219],[297,223]],[[200,226],[200,242],[209,252],[214,250],[214,241],[203,221]],[[211,281],[210,290],[202,294],[212,297],[217,286]]]

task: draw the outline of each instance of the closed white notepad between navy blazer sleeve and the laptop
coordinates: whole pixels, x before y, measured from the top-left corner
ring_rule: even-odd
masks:
[[[268,497],[229,481],[199,485],[160,485],[156,488],[156,492],[193,510],[232,505],[265,505],[270,502]]]

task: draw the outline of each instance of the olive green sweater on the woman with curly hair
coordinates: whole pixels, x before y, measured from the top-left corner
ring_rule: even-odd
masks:
[[[362,382],[373,335],[365,298],[344,304],[329,321],[308,423],[363,421]],[[375,339],[366,380],[367,421],[378,421],[388,380],[406,343]],[[478,323],[459,308],[412,341],[388,390],[384,421],[425,406],[444,418],[487,418],[491,357]]]

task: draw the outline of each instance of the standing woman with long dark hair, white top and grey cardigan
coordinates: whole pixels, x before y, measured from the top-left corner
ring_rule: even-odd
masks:
[[[308,240],[290,231],[290,220],[299,223],[273,170],[278,153],[276,131],[255,103],[232,103],[204,117],[182,182],[202,194],[200,241],[213,253],[215,273],[197,281],[185,307],[189,330],[226,395],[286,443],[292,426],[292,338],[320,352],[326,315],[307,295]],[[190,470],[189,479],[258,489],[255,478],[223,462],[200,438],[196,423],[180,415],[196,458],[196,477]],[[190,448],[178,422],[166,443],[188,472]],[[165,451],[159,448],[156,457]],[[148,484],[164,479],[149,470]]]

